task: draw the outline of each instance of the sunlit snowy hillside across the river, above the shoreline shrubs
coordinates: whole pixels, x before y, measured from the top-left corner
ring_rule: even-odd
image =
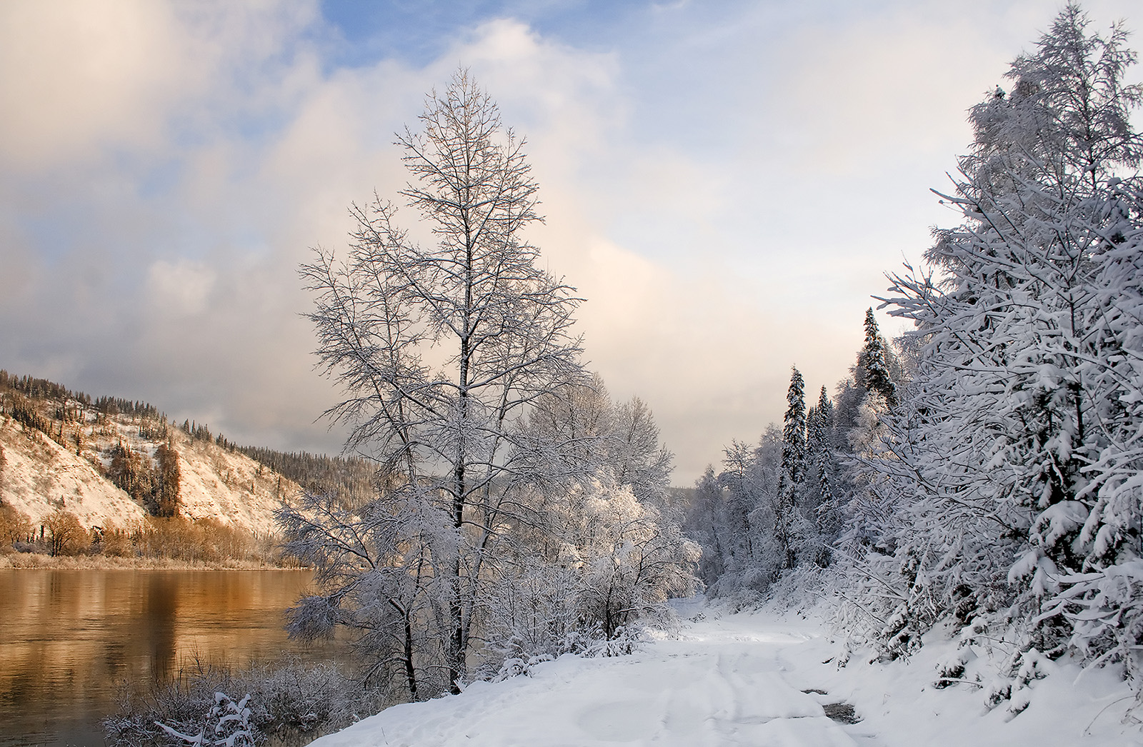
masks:
[[[0,504],[33,527],[64,509],[88,530],[179,516],[267,537],[274,509],[301,489],[206,426],[0,371]]]

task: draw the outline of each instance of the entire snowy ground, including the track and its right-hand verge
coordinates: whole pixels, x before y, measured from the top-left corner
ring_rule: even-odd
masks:
[[[1012,718],[985,710],[978,689],[932,688],[951,644],[936,641],[908,664],[855,652],[839,669],[840,646],[813,620],[732,615],[697,601],[679,611],[695,619],[632,656],[563,657],[531,676],[389,708],[313,747],[1143,747],[1138,722],[1124,721],[1128,691],[1110,672],[1076,683],[1064,667],[1036,682],[1031,706]],[[839,702],[860,721],[828,717],[844,715]]]

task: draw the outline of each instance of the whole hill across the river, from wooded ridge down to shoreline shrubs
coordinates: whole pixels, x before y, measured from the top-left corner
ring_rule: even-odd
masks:
[[[373,472],[361,459],[238,447],[222,434],[211,434],[205,424],[175,425],[147,402],[91,397],[5,370],[0,370],[0,426],[5,434],[0,439],[0,552],[32,554],[9,556],[16,564],[43,562],[37,554],[120,563],[277,564],[281,556],[272,509],[282,497],[298,485],[344,495],[368,492],[373,482]],[[72,461],[61,461],[62,451]],[[245,455],[257,465],[239,468],[233,460],[219,458],[224,453]],[[200,505],[189,514],[186,503],[192,498],[187,490],[210,490],[201,474],[185,474],[200,466],[207,469],[208,483],[211,479],[222,482],[215,491],[237,490],[251,504],[255,490],[278,499],[270,508],[251,505],[255,514],[242,514],[237,524],[234,516],[227,521],[209,512],[203,515]],[[74,493],[53,482],[51,475],[82,475],[85,469],[90,473],[88,482],[77,485]],[[194,484],[189,487],[189,480]],[[129,500],[101,508],[105,500],[101,496],[115,489]],[[37,496],[29,496],[29,490]],[[18,499],[22,493],[23,501]],[[251,519],[258,511],[264,519]]]

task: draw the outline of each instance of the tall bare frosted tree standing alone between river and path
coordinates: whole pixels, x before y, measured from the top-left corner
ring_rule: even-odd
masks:
[[[345,397],[327,416],[351,427],[347,450],[375,459],[383,484],[344,516],[317,496],[281,515],[289,549],[323,583],[295,624],[314,619],[305,605],[319,620],[369,610],[415,624],[408,648],[397,636],[414,697],[422,669],[454,690],[465,677],[490,585],[511,572],[501,547],[533,520],[536,451],[550,445],[522,423],[582,378],[578,302],[522,235],[539,220],[523,140],[464,71],[419,123],[398,136],[411,177],[400,194],[434,242],[413,241],[375,199],[351,210],[345,259],[318,250],[302,267],[320,366]]]

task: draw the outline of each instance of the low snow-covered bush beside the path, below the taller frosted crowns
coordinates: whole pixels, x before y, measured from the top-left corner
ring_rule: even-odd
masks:
[[[537,498],[538,500],[538,498]],[[510,570],[482,619],[488,674],[522,674],[563,653],[614,654],[641,617],[694,593],[698,547],[610,471],[545,505],[546,541],[499,559]],[[538,552],[537,552],[538,551]],[[625,642],[626,641],[626,642]]]

